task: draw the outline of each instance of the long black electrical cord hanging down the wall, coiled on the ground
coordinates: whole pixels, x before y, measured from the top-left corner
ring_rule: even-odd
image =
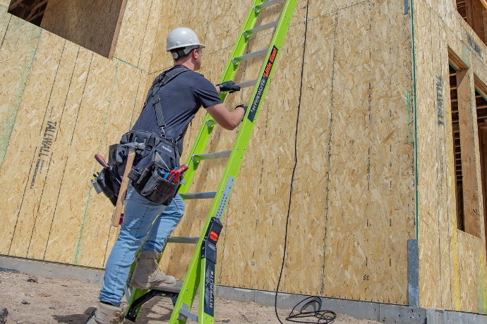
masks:
[[[299,111],[301,109],[301,94],[303,91],[304,54],[306,51],[306,33],[308,32],[308,9],[309,9],[309,0],[306,3],[306,23],[304,27],[303,62],[301,66],[301,85],[299,86],[299,104],[298,104],[297,118],[296,118],[296,134],[294,137],[294,167],[291,175],[291,188],[289,189],[289,206],[287,208],[286,232],[284,234],[284,253],[282,254],[281,272],[279,273],[279,280],[277,280],[277,288],[276,288],[276,294],[274,299],[274,310],[277,316],[277,320],[279,320],[279,323],[281,324],[284,323],[281,322],[281,319],[279,318],[279,314],[277,313],[277,294],[279,294],[279,285],[281,284],[282,270],[284,270],[284,260],[286,259],[287,228],[289,225],[289,213],[291,212],[291,197],[292,197],[292,189],[293,189],[292,184],[294,182],[294,173],[296,172],[296,166],[298,164],[298,156],[297,156],[298,126],[299,126]],[[311,300],[307,301],[308,299]],[[303,304],[304,301],[307,302]],[[301,306],[301,309],[299,311],[295,311],[296,307],[298,307],[300,304],[303,304],[303,306]],[[314,307],[313,311],[306,311],[306,309],[311,308],[313,304],[315,304],[318,307]],[[311,318],[311,317],[318,318],[318,320],[316,322],[304,321],[307,318]],[[302,301],[300,301],[298,304],[296,304],[296,306],[294,306],[294,308],[292,309],[291,313],[289,313],[289,316],[287,316],[286,320],[294,323],[329,324],[332,323],[332,321],[335,320],[335,318],[337,318],[337,314],[335,314],[334,312],[321,310],[320,297],[312,296],[312,297],[307,297]]]

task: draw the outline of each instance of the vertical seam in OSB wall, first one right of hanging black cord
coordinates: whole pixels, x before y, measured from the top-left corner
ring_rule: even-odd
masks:
[[[365,1],[364,1],[365,2]],[[323,239],[323,277],[321,280],[321,295],[325,292],[325,256],[326,256],[326,235],[327,235],[327,223],[328,223],[328,210],[329,210],[329,197],[330,197],[330,163],[331,163],[331,151],[332,151],[332,123],[333,123],[333,99],[335,90],[335,61],[336,61],[336,49],[337,49],[337,25],[338,25],[338,13],[335,13],[335,30],[333,35],[333,63],[332,63],[332,89],[331,89],[331,102],[330,102],[330,139],[328,141],[328,166],[327,166],[327,185],[326,185],[326,204],[325,204],[325,238]],[[306,39],[305,39],[306,42]]]

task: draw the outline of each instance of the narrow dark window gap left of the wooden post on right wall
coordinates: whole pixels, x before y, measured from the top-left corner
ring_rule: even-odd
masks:
[[[452,104],[453,160],[455,168],[455,199],[457,206],[457,228],[465,230],[463,212],[462,147],[460,147],[460,127],[458,115],[457,70],[450,63],[450,98]]]

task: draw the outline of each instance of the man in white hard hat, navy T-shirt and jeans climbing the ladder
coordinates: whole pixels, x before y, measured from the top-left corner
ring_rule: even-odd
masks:
[[[147,102],[133,125],[133,130],[155,132],[157,135],[164,133],[167,139],[176,142],[181,151],[186,127],[200,106],[206,108],[212,118],[227,130],[233,130],[240,124],[246,106],[237,106],[230,112],[218,95],[218,92],[234,92],[240,88],[232,81],[213,86],[203,75],[194,72],[200,70],[204,47],[195,32],[189,28],[179,27],[169,33],[167,51],[174,58],[172,69],[184,66],[189,70],[176,75],[157,92],[166,123],[164,130],[157,127],[154,97]],[[169,206],[163,206],[145,199],[133,187],[128,187],[124,221],[107,260],[100,303],[95,314],[88,318],[87,324],[123,323],[128,305],[126,302],[122,303],[121,298],[131,264],[142,244],[131,286],[148,289],[161,284],[174,285],[174,277],[157,271],[157,258],[183,213],[184,201],[179,194],[176,194]]]

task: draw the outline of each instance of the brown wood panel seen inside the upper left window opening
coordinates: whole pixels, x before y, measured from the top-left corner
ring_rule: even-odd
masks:
[[[122,1],[50,0],[41,27],[108,57]]]

